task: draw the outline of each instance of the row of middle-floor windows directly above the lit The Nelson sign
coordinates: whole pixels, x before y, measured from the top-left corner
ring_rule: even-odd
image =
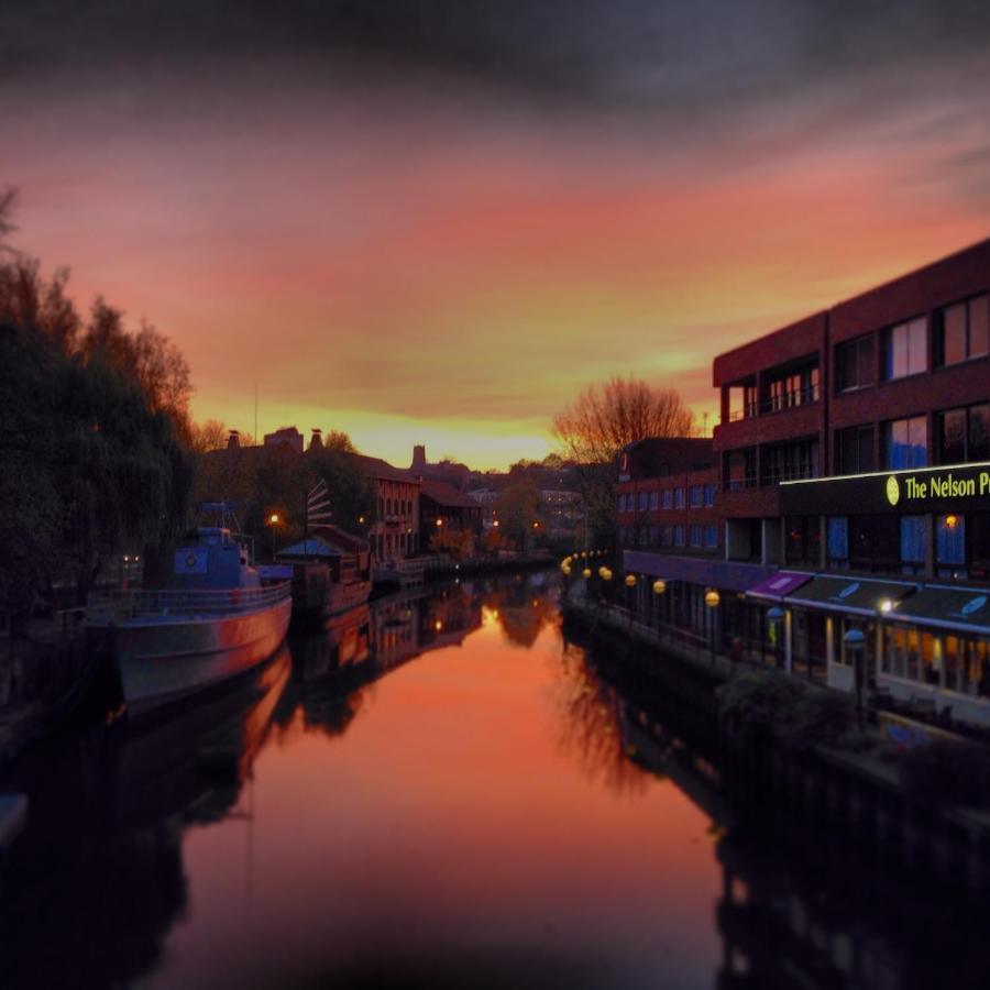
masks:
[[[990,403],[936,413],[936,464],[966,464],[990,461]],[[928,465],[928,418],[911,416],[882,424],[880,463],[883,468]],[[835,435],[835,473],[861,474],[876,471],[873,427],[858,426]]]

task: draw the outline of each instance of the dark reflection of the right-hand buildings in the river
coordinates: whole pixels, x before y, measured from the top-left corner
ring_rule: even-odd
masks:
[[[986,906],[960,911],[945,887],[902,880],[806,820],[737,821],[721,791],[714,726],[622,670],[607,669],[609,690],[593,675],[595,703],[610,697],[624,757],[669,778],[721,834],[719,990],[986,987]]]

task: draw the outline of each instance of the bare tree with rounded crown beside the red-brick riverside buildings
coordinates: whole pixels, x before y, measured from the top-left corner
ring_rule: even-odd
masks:
[[[585,388],[553,418],[551,432],[575,464],[587,525],[597,539],[615,530],[615,461],[619,451],[648,437],[689,437],[694,414],[674,388],[629,375]]]

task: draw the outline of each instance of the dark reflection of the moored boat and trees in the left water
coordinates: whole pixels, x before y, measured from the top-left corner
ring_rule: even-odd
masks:
[[[188,906],[190,822],[226,816],[267,736],[287,651],[170,719],[77,735],[4,782],[29,795],[28,829],[0,862],[0,985],[121,987],[155,968]],[[229,757],[222,785],[205,749]]]

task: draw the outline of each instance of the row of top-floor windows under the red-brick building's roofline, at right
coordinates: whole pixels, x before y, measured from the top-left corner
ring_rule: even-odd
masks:
[[[892,382],[947,367],[990,353],[990,295],[964,299],[935,314],[931,342],[928,321],[916,317],[880,334],[880,378]],[[866,333],[835,349],[836,392],[864,388],[877,381],[876,334]],[[931,360],[930,360],[931,359]]]

